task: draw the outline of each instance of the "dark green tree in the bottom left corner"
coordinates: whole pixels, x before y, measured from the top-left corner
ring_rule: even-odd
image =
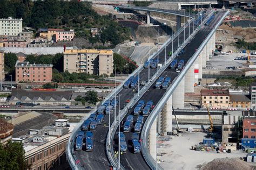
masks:
[[[22,143],[0,144],[0,169],[26,169]]]

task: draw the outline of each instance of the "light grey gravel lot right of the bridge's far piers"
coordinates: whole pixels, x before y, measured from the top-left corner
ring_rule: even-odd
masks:
[[[213,69],[226,69],[226,67],[246,67],[245,60],[234,60],[237,56],[248,56],[244,53],[232,53],[228,55],[212,56],[210,59],[210,65],[206,67],[212,67]],[[251,61],[256,63],[256,55],[250,55]]]

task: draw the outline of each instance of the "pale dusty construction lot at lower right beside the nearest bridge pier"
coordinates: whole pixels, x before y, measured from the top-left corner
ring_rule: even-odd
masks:
[[[164,169],[197,169],[198,165],[205,164],[215,158],[240,158],[246,153],[234,151],[231,153],[216,153],[215,151],[203,152],[190,150],[192,145],[202,142],[205,133],[191,132],[183,133],[181,137],[172,137],[165,141],[164,146],[158,146],[158,159],[161,160],[161,167]]]

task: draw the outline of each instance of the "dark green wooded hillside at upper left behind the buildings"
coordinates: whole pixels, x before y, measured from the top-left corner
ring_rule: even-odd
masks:
[[[76,32],[76,37],[95,42],[112,42],[117,45],[130,38],[130,29],[119,25],[108,16],[99,16],[92,10],[89,3],[77,1],[62,2],[45,0],[31,2],[29,0],[2,0],[0,5],[1,18],[23,18],[23,26],[51,27]],[[92,38],[90,31],[85,29],[98,28],[102,30],[100,37]]]

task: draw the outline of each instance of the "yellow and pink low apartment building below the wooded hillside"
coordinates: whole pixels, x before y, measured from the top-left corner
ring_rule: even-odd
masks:
[[[63,29],[39,29],[39,35],[48,38],[48,41],[71,41],[75,37],[75,31]]]

